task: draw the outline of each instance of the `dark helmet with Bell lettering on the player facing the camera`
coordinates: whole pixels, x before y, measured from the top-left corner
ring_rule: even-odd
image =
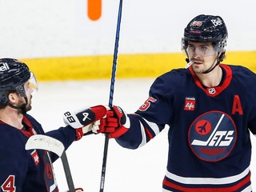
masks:
[[[182,38],[182,50],[186,50],[188,41],[213,42],[214,49],[222,52],[222,61],[225,55],[228,33],[226,25],[220,16],[200,14],[193,18],[184,30]]]

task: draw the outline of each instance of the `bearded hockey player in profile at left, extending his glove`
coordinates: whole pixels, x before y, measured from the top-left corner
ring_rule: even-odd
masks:
[[[42,126],[26,113],[31,109],[35,90],[36,79],[25,63],[0,59],[0,191],[3,192],[58,192],[52,166],[58,156],[46,150],[25,150],[26,141],[31,135],[46,134],[57,138],[67,149],[86,134],[93,122],[106,115],[104,106],[73,112],[78,119],[77,129],[65,126],[44,133]]]

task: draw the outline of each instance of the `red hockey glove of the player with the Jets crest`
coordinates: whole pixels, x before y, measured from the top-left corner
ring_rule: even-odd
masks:
[[[130,128],[130,118],[119,106],[113,106],[106,112],[106,118],[102,118],[98,128],[98,133],[106,133],[110,134],[110,138],[118,138]]]

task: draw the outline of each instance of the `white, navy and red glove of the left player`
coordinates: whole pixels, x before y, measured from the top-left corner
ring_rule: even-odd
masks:
[[[90,131],[97,133],[98,123],[95,122],[106,117],[106,111],[105,106],[91,106],[83,110],[67,111],[63,114],[63,120],[66,125],[76,129],[76,140],[79,140]]]

